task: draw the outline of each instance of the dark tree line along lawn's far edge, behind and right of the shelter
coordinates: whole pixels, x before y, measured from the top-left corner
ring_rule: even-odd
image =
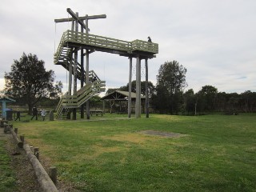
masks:
[[[256,92],[246,90],[242,94],[218,92],[214,86],[202,86],[198,92],[186,90],[186,68],[177,61],[165,62],[158,70],[157,84],[149,82],[150,107],[160,114],[196,115],[208,112],[256,112]],[[136,82],[132,83],[136,92]],[[129,84],[113,90],[129,90]],[[142,94],[145,94],[142,82]]]

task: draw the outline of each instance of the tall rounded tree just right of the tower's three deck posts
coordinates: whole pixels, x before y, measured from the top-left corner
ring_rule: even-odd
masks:
[[[160,66],[157,76],[157,98],[165,98],[162,106],[168,107],[170,114],[177,114],[181,107],[181,94],[187,86],[186,68],[177,61],[165,62]],[[162,95],[164,94],[164,95]]]

